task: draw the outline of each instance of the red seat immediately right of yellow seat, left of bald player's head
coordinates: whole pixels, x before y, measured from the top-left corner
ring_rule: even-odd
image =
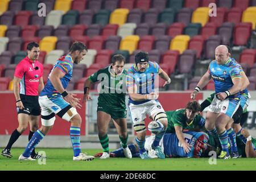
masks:
[[[201,35],[193,36],[189,40],[188,49],[196,51],[196,58],[200,59],[201,53],[203,52],[204,48],[204,38]]]

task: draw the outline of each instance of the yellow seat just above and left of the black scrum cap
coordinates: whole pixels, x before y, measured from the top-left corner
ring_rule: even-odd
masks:
[[[120,43],[120,50],[127,50],[129,53],[133,53],[135,49],[137,49],[139,42],[139,36],[138,35],[129,35],[126,36],[126,38],[121,40]]]

